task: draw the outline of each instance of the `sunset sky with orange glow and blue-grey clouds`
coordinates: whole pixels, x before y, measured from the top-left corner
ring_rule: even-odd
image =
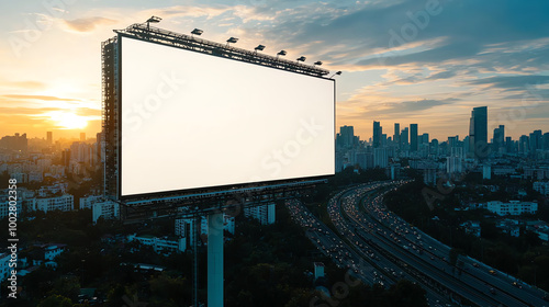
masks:
[[[0,4],[0,136],[54,139],[101,129],[101,42],[113,30],[163,18],[158,27],[265,54],[288,52],[343,71],[336,127],[361,139],[372,122],[393,134],[418,124],[445,140],[489,109],[517,139],[549,130],[549,1],[529,0],[45,0]],[[337,128],[338,129],[338,128]]]

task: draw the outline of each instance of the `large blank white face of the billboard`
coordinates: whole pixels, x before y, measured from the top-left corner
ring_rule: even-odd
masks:
[[[121,196],[335,173],[333,80],[120,38]]]

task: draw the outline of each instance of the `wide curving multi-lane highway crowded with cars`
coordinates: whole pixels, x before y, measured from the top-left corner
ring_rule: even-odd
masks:
[[[334,241],[337,237],[339,242],[325,254],[337,255],[336,263],[355,270],[363,282],[390,285],[401,277],[417,282],[427,291],[430,306],[448,305],[449,302],[466,306],[548,306],[544,300],[545,292],[519,281],[513,286],[514,277],[474,259],[460,255],[459,268],[450,265],[449,247],[384,207],[383,195],[403,183],[363,184],[333,196],[327,209],[337,234],[322,225],[299,202],[290,203],[294,208],[306,211],[305,215],[314,220],[302,226],[307,228],[310,238],[316,238],[321,250],[326,240]],[[322,239],[324,236],[312,228],[322,229],[324,236],[327,229],[332,239]],[[338,250],[341,245],[345,245],[343,252]],[[347,253],[350,257],[346,257]],[[356,269],[358,262],[361,264],[359,270]]]

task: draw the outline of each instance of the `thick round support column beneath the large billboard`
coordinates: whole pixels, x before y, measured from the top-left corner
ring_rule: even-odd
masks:
[[[223,307],[223,213],[208,216],[208,306]]]

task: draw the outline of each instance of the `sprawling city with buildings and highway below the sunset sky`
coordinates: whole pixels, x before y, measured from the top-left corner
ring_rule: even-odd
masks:
[[[404,299],[393,293],[397,287],[406,288],[406,296],[413,293],[410,306],[496,302],[540,306],[549,299],[545,294],[549,289],[549,133],[537,129],[513,139],[505,136],[504,125],[497,125],[489,135],[488,118],[486,106],[474,107],[469,135],[444,140],[429,139],[421,123],[410,127],[394,123],[388,136],[388,129],[373,121],[373,135],[367,140],[355,135],[352,126],[341,126],[336,135],[337,173],[327,186],[318,186],[303,200],[246,207],[243,215],[225,214],[225,245],[229,250],[242,248],[234,245],[256,236],[244,232],[249,227],[266,234],[259,229],[283,231],[280,227],[293,225],[298,232],[292,240],[306,243],[299,257],[305,274],[299,277],[303,292],[283,296],[295,300],[295,306],[305,300],[322,306],[321,302],[335,298],[354,304],[358,294],[344,294],[359,288],[367,293],[361,294],[365,302],[382,300],[373,294],[380,291],[391,299]],[[154,289],[153,283],[189,286],[190,255],[194,248],[200,252],[208,245],[205,217],[122,224],[120,204],[101,194],[101,134],[81,133],[79,139],[54,140],[52,132],[43,138],[15,134],[0,139],[2,183],[15,180],[18,185],[16,278],[22,282],[16,292],[27,304],[48,293],[55,294],[47,298],[55,304],[68,299],[82,304],[78,306],[122,306],[141,298],[152,305],[155,299],[164,302],[156,297],[161,291]],[[4,185],[3,200],[9,191]],[[8,224],[13,209],[8,201],[0,205],[0,217]],[[200,234],[197,243],[193,231]],[[4,238],[9,239],[7,234]],[[265,240],[248,247],[249,252],[260,252],[256,249]],[[1,257],[2,292],[13,278],[11,259],[9,251]],[[249,261],[257,263],[254,270],[274,268],[259,269],[269,262]],[[187,268],[181,268],[183,263]],[[119,275],[109,281],[120,283],[114,288],[101,286],[102,274],[109,271]],[[344,288],[330,287],[330,281],[345,271],[360,286],[349,282]],[[136,282],[133,278],[143,274],[152,274],[149,289],[143,284],[123,286],[123,281]],[[41,285],[41,276],[55,277]],[[271,277],[269,284],[274,282]],[[368,286],[373,288],[365,292]],[[244,306],[244,289],[227,288],[229,296],[236,295],[235,304]],[[169,297],[173,304],[190,304],[191,295],[189,291]],[[262,302],[254,295],[246,299],[254,306]]]

